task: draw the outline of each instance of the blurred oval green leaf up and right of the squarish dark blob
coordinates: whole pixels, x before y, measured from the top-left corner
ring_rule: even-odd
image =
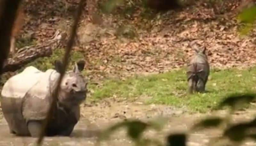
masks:
[[[219,117],[209,117],[201,120],[192,127],[192,130],[199,130],[203,128],[218,127],[223,122],[223,119]]]

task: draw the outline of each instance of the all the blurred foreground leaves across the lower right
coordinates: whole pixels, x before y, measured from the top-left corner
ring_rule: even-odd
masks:
[[[228,106],[232,110],[226,115],[224,118],[222,117],[206,117],[205,119],[195,123],[191,129],[189,129],[186,133],[176,133],[170,134],[166,137],[166,142],[161,142],[157,139],[147,139],[143,135],[143,132],[148,128],[154,128],[155,130],[162,130],[161,128],[165,124],[166,119],[158,119],[157,121],[149,121],[143,122],[140,120],[127,120],[124,122],[117,123],[113,126],[108,127],[101,133],[98,144],[100,144],[103,140],[108,140],[109,135],[118,130],[121,127],[127,128],[127,136],[130,137],[135,145],[157,145],[157,146],[186,146],[187,140],[190,133],[195,133],[200,130],[204,130],[206,128],[220,128],[222,126],[222,134],[217,138],[212,138],[208,145],[229,145],[229,142],[236,142],[235,145],[239,146],[243,144],[243,140],[245,139],[254,139],[255,140],[255,131],[250,129],[255,128],[256,123],[255,119],[232,124],[231,114],[239,109],[239,107],[244,104],[248,104],[252,100],[254,100],[256,94],[236,94],[225,98],[225,100],[221,101],[218,106],[224,107]],[[241,102],[244,101],[244,102]],[[160,126],[159,126],[160,125]],[[225,125],[225,126],[223,126]],[[234,143],[232,144],[234,145]]]

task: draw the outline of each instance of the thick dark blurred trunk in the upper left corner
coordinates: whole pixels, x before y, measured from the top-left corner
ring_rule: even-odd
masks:
[[[16,14],[22,0],[0,1],[0,75],[10,50],[10,38]]]

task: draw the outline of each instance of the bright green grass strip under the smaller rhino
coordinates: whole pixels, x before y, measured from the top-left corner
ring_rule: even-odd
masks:
[[[256,67],[247,70],[212,70],[206,85],[206,93],[187,94],[184,69],[149,76],[127,78],[126,81],[106,80],[101,87],[90,85],[92,99],[117,97],[148,97],[146,103],[188,107],[191,111],[205,112],[214,109],[226,96],[251,92],[255,89]]]

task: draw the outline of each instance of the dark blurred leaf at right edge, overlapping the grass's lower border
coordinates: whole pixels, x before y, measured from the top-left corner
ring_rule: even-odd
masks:
[[[234,94],[231,95],[229,97],[227,97],[226,99],[224,99],[219,106],[223,107],[223,106],[230,106],[232,108],[237,107],[238,105],[242,105],[245,103],[249,103],[251,102],[254,98],[255,98],[256,94],[254,93],[248,93],[248,94]]]

